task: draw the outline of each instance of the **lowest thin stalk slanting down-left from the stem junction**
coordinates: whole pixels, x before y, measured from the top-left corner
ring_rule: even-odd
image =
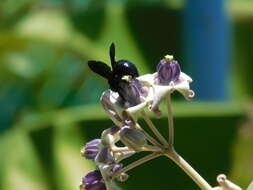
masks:
[[[118,172],[116,172],[114,175],[113,175],[113,178],[117,177],[118,175],[120,175],[121,173],[125,173],[133,168],[135,168],[136,166],[139,166],[149,160],[152,160],[158,156],[161,156],[161,153],[158,153],[158,152],[155,152],[155,153],[152,153],[152,154],[149,154],[135,162],[132,162],[131,164],[129,164],[128,166],[120,169]]]

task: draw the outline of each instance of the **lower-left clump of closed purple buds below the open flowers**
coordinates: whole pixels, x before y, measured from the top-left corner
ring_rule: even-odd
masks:
[[[121,140],[124,147],[116,146]],[[113,178],[123,182],[128,175],[120,172],[123,159],[136,152],[144,150],[147,145],[146,137],[140,129],[133,126],[113,126],[104,130],[101,139],[87,142],[81,149],[81,154],[89,160],[93,160],[97,169],[83,177],[81,189],[86,190],[118,190],[119,187]]]

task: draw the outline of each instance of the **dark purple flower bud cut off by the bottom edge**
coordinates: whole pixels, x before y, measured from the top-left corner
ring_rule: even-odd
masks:
[[[82,187],[86,190],[106,190],[105,183],[101,172],[99,170],[93,170],[83,177]]]

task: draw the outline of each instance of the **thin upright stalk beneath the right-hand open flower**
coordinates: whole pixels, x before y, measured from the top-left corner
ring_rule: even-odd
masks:
[[[168,109],[168,129],[169,129],[168,141],[169,141],[169,144],[171,146],[173,146],[173,144],[174,144],[174,122],[173,122],[170,94],[166,96],[166,103],[167,103],[167,109]]]

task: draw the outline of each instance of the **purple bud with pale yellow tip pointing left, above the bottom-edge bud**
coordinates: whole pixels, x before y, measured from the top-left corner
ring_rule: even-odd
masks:
[[[100,139],[94,139],[87,142],[86,145],[81,149],[82,155],[88,160],[94,160],[99,151]]]

